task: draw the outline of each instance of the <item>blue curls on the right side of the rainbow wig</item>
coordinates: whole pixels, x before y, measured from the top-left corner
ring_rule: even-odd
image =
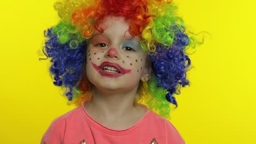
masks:
[[[189,38],[184,31],[185,29],[182,28],[175,32],[171,46],[156,44],[156,53],[149,52],[153,73],[158,79],[157,86],[166,89],[166,100],[176,107],[178,105],[173,94],[180,93],[179,86],[189,85],[186,72],[191,61],[184,51],[185,46],[189,44]]]

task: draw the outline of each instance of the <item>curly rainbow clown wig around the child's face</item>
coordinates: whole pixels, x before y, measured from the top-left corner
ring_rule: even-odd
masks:
[[[185,50],[193,41],[185,34],[177,7],[161,0],[63,0],[56,2],[60,21],[45,31],[43,52],[50,58],[50,73],[55,86],[65,88],[68,104],[80,105],[89,99],[90,83],[84,78],[86,47],[95,29],[102,31],[100,20],[123,16],[130,20],[129,32],[140,35],[141,47],[148,53],[152,75],[141,82],[137,103],[170,118],[177,107],[174,94],[189,85],[190,59]],[[192,44],[193,45],[193,44]]]

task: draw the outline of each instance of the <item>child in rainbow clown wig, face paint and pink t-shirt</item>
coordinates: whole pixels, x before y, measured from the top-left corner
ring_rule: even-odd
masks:
[[[41,143],[184,143],[167,121],[189,85],[189,38],[161,0],[63,0],[44,53],[54,85],[78,107],[56,118]],[[166,119],[165,119],[165,118]]]

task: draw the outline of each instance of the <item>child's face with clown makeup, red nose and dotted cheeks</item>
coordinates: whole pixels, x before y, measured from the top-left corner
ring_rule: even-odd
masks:
[[[100,27],[103,33],[95,31],[86,53],[89,81],[100,89],[137,90],[139,80],[148,75],[139,37],[131,37],[123,17],[106,17]]]

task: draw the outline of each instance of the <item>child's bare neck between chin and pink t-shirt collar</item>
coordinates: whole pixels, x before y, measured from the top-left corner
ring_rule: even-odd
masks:
[[[136,110],[134,102],[137,88],[124,92],[121,90],[106,90],[92,87],[92,99],[87,109],[105,119],[124,118]]]

